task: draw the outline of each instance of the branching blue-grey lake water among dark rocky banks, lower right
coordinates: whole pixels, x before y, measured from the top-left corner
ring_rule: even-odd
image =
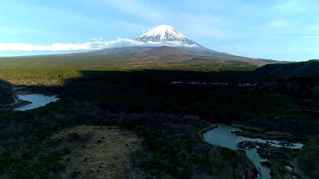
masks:
[[[243,136],[236,136],[231,134],[231,131],[241,131],[239,128],[231,127],[228,126],[227,124],[224,123],[217,123],[218,127],[215,129],[212,129],[206,133],[203,134],[204,140],[212,145],[217,145],[217,146],[222,146],[222,147],[227,147],[232,150],[239,149],[237,147],[237,144],[242,141],[256,141],[260,143],[267,143],[275,146],[275,147],[283,147],[279,145],[279,142],[283,141],[277,141],[277,140],[263,140],[263,139],[252,139],[248,137],[243,137]],[[275,144],[271,144],[270,142],[273,142]],[[289,147],[289,148],[295,148],[295,149],[300,149],[303,147],[303,144],[296,143],[294,146]],[[246,150],[246,155],[247,157],[255,164],[256,168],[260,171],[261,176],[258,175],[259,179],[270,179],[270,169],[267,167],[262,167],[260,162],[267,161],[267,159],[261,158],[258,153],[257,149],[250,149]]]

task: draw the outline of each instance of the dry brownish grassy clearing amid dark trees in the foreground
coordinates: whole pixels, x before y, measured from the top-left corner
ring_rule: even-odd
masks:
[[[76,132],[78,141],[71,139]],[[142,148],[141,139],[134,132],[116,127],[78,126],[54,137],[64,138],[65,146],[71,154],[64,157],[66,173],[64,179],[71,178],[72,172],[80,171],[77,179],[143,179],[145,174],[132,167],[129,154]]]

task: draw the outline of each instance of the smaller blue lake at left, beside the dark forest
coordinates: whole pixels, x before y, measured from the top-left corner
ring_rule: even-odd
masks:
[[[56,98],[58,95],[44,95],[44,94],[22,94],[18,95],[18,99],[31,101],[31,104],[27,104],[21,107],[14,108],[13,110],[29,110],[34,109],[40,106],[44,106],[49,102],[55,102],[59,98]]]

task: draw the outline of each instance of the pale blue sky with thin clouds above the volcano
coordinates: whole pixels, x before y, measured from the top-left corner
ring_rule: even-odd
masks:
[[[0,56],[135,45],[173,26],[221,52],[283,61],[319,59],[319,0],[0,0]]]

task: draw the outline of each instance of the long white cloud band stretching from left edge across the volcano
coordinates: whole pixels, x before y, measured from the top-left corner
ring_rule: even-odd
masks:
[[[181,41],[164,42],[139,42],[132,39],[118,38],[117,40],[106,41],[101,38],[92,38],[92,42],[85,43],[54,43],[52,45],[32,45],[25,43],[0,43],[0,51],[93,51],[114,47],[134,47],[134,46],[184,46],[197,47],[197,45],[185,44]]]

